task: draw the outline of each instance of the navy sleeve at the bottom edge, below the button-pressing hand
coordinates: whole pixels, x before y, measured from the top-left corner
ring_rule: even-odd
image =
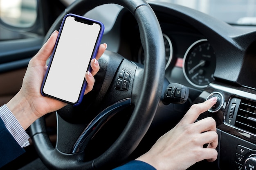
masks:
[[[156,170],[153,166],[143,161],[130,161],[114,170]]]

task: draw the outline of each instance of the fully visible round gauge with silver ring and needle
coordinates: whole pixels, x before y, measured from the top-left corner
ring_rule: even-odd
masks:
[[[183,59],[183,72],[191,85],[199,88],[207,87],[214,80],[215,68],[215,52],[207,39],[195,41],[186,50]]]

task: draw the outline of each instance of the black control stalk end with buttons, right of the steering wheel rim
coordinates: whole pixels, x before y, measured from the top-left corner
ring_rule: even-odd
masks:
[[[163,103],[166,105],[170,103],[183,104],[186,102],[186,100],[188,100],[188,97],[188,87],[177,83],[171,83],[168,85],[164,92]]]

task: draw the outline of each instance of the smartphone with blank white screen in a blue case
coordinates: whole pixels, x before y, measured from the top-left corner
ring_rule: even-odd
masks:
[[[85,74],[91,71],[90,61],[97,54],[103,32],[99,21],[65,15],[41,86],[43,96],[72,105],[81,103]]]

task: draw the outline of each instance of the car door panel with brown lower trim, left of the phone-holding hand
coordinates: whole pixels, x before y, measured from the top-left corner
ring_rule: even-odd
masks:
[[[29,60],[42,42],[43,37],[0,42],[0,105],[19,91]]]

